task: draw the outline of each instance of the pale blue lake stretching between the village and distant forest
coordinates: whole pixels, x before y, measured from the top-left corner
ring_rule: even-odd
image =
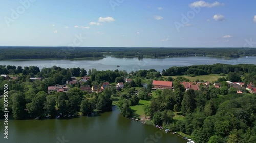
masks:
[[[204,64],[256,64],[256,56],[242,57],[237,59],[212,58],[204,56],[195,57],[177,57],[177,58],[115,58],[108,56],[103,59],[88,59],[88,60],[34,60],[34,61],[0,61],[0,65],[15,65],[15,66],[37,66],[40,69],[43,67],[52,67],[54,65],[61,68],[80,67],[86,70],[95,68],[97,70],[126,70],[127,72],[140,69],[156,69],[162,72],[163,69],[168,69],[172,66],[190,66]],[[120,67],[117,67],[119,65]]]

